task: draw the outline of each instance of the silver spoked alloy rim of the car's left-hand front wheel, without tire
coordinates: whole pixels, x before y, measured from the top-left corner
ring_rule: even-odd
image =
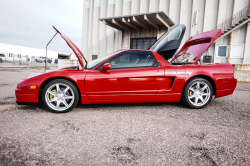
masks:
[[[66,84],[56,83],[46,90],[45,100],[51,109],[64,111],[74,103],[74,91]]]

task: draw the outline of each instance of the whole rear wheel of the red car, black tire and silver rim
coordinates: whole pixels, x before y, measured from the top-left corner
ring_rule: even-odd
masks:
[[[195,87],[197,88],[198,83],[200,85],[199,86],[200,89],[195,89]],[[206,87],[206,89],[202,92],[202,89],[204,87]],[[190,88],[194,89],[195,92],[193,92]],[[199,98],[197,102],[196,98]],[[185,85],[182,91],[181,102],[189,108],[201,109],[206,107],[211,102],[212,98],[213,98],[213,87],[211,83],[204,78],[196,77],[189,80]]]

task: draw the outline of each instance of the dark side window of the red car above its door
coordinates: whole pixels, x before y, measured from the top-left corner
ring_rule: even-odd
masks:
[[[154,55],[150,51],[126,51],[106,63],[110,63],[111,69],[142,68],[159,66]],[[102,65],[97,68],[100,70]]]

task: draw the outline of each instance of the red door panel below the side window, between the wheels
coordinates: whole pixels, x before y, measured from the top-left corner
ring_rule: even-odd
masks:
[[[159,90],[164,77],[163,67],[91,70],[85,86],[89,100],[148,99]]]

